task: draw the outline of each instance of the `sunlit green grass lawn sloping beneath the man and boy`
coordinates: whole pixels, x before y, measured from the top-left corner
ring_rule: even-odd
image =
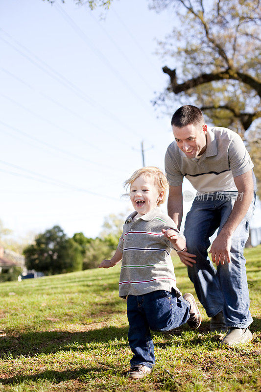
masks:
[[[200,306],[197,331],[154,334],[157,363],[140,381],[120,375],[131,351],[119,266],[0,284],[0,391],[261,391],[260,255],[245,250],[254,340],[222,348]],[[194,294],[173,262],[179,289]]]

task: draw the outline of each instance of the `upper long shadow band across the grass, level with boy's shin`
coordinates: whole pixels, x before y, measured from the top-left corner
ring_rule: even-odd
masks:
[[[251,331],[258,333],[261,330],[261,318],[254,317],[251,324]],[[101,323],[104,321],[101,321]],[[202,343],[198,334],[208,335],[209,321],[203,321],[200,328],[193,332],[193,337],[186,338],[183,333],[191,331],[187,324],[176,330],[165,333],[166,338],[164,346],[171,345],[173,339],[171,335],[179,337],[184,346]],[[43,331],[43,332],[26,332],[20,336],[4,337],[0,341],[0,358],[17,358],[21,355],[35,357],[39,354],[52,354],[61,351],[88,351],[97,348],[100,343],[121,341],[122,346],[128,346],[127,334],[128,327],[104,326],[100,327],[97,323],[92,323],[90,329],[84,332],[70,331]],[[157,333],[160,334],[160,333]],[[123,339],[122,339],[123,338]],[[155,346],[161,346],[161,343],[155,343]]]

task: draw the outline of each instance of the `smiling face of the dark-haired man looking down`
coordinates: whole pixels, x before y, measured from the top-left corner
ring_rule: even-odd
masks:
[[[185,152],[187,158],[195,158],[206,151],[207,124],[189,124],[182,128],[172,125],[172,130],[178,147]]]

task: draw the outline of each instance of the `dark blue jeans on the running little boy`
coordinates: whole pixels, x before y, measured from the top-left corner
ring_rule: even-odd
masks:
[[[152,331],[169,331],[190,318],[190,303],[176,292],[157,290],[143,295],[128,295],[127,316],[130,324],[128,340],[133,352],[131,367],[155,364]]]

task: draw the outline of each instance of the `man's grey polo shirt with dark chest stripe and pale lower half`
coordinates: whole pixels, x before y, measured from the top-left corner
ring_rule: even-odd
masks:
[[[186,154],[172,142],[165,155],[169,185],[178,186],[185,176],[198,192],[237,191],[234,177],[254,167],[240,136],[228,128],[208,127],[207,148],[197,158]]]

